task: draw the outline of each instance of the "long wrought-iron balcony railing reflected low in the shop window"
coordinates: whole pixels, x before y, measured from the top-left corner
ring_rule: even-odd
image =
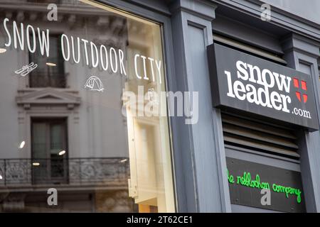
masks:
[[[0,187],[127,184],[127,157],[0,159]]]

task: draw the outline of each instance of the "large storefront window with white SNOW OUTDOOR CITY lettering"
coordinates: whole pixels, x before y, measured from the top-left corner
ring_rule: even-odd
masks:
[[[161,25],[0,2],[0,211],[174,212]]]

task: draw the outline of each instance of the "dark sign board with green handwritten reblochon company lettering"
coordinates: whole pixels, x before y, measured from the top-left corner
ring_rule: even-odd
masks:
[[[284,212],[306,211],[299,172],[231,157],[227,157],[227,167],[231,204]],[[267,193],[262,189],[270,189],[270,201],[262,198]]]

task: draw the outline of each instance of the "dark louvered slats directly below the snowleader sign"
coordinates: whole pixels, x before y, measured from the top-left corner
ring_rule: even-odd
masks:
[[[299,158],[294,131],[253,118],[222,113],[225,144]]]

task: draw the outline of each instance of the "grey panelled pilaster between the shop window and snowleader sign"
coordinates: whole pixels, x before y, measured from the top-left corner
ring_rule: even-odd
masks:
[[[225,148],[220,111],[213,109],[206,47],[213,43],[213,4],[203,1],[174,1],[170,10],[176,90],[198,92],[198,123],[177,118],[183,159],[176,171],[179,212],[230,212]],[[214,21],[213,21],[214,22]]]

